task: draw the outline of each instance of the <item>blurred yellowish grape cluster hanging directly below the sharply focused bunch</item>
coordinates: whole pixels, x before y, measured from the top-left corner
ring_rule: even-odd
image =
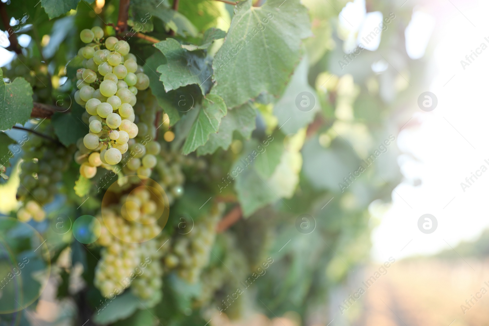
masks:
[[[142,299],[161,288],[158,258],[164,251],[158,251],[161,241],[156,236],[161,227],[156,223],[158,205],[151,195],[138,187],[122,196],[118,205],[103,208],[103,217],[97,217],[102,225],[97,242],[104,248],[94,284],[104,297],[123,292],[133,281],[133,291]],[[151,288],[146,288],[148,284]]]

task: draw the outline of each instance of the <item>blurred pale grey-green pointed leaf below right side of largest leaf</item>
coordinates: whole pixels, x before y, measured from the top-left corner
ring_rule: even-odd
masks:
[[[282,98],[273,107],[273,114],[278,118],[280,129],[285,133],[295,133],[299,128],[305,127],[314,120],[314,115],[320,109],[319,98],[316,91],[308,83],[308,60],[304,58],[295,69]],[[296,101],[308,105],[298,109]]]

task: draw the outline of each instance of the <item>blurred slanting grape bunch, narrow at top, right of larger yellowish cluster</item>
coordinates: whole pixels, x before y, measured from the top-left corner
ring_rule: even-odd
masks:
[[[176,269],[178,275],[189,283],[196,283],[202,269],[208,264],[210,249],[216,239],[217,224],[224,212],[224,204],[213,205],[209,215],[194,223],[191,232],[176,235],[171,249],[164,256],[168,269]]]

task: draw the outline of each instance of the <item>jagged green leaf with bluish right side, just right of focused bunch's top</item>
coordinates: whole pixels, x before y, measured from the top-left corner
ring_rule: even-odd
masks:
[[[175,39],[167,39],[155,44],[166,57],[167,63],[157,67],[161,73],[159,80],[168,92],[178,87],[197,84],[202,94],[212,86],[212,68],[203,51],[187,51]]]

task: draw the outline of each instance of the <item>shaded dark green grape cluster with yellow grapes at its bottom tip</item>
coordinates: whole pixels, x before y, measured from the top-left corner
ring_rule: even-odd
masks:
[[[42,206],[53,201],[58,190],[57,183],[63,178],[71,154],[69,149],[55,148],[50,140],[40,137],[32,137],[24,146],[21,185],[17,190],[17,198],[23,202],[23,206],[17,217],[25,222],[31,218],[42,221],[46,216]]]

